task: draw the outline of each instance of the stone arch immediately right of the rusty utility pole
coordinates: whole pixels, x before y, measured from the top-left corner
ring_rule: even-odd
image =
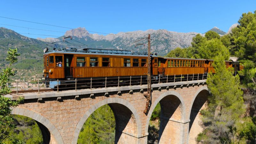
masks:
[[[145,132],[148,132],[150,117],[157,103],[160,102],[161,116],[159,129],[159,143],[180,143],[185,118],[185,103],[181,95],[176,91],[162,93],[152,104],[148,112]],[[172,134],[170,134],[172,132]]]

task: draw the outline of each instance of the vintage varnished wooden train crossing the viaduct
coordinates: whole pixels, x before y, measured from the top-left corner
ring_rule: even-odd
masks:
[[[117,78],[118,76],[143,76],[145,78],[148,74],[146,52],[88,48],[83,51],[68,48],[49,52],[46,48],[44,52],[43,81],[46,81],[46,85],[51,88],[72,82],[75,79]],[[150,62],[152,76],[214,73],[213,60],[166,58],[151,55]],[[235,71],[240,69],[239,62],[225,62],[227,67],[234,67]]]

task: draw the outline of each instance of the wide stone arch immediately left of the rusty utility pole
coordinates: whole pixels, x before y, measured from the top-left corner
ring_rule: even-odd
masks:
[[[99,102],[97,102],[96,104],[92,105],[87,111],[86,113],[82,116],[82,118],[79,120],[78,124],[76,125],[76,129],[75,132],[73,134],[73,138],[72,138],[72,144],[76,144],[77,143],[77,139],[78,139],[78,135],[82,129],[83,124],[85,123],[85,121],[87,120],[87,118],[98,108],[100,108],[103,105],[108,104],[110,106],[110,108],[113,110],[114,115],[115,115],[115,119],[119,119],[122,120],[121,116],[119,116],[119,118],[117,118],[118,116],[116,115],[117,110],[123,110],[123,111],[130,111],[131,112],[131,116],[130,116],[130,120],[129,121],[133,121],[132,123],[134,123],[134,127],[135,127],[135,131],[125,131],[126,137],[131,136],[133,138],[140,138],[141,137],[141,121],[140,121],[140,116],[138,115],[138,112],[136,111],[136,109],[132,106],[132,104],[129,103],[129,101],[124,100],[122,98],[106,98],[104,100],[101,100]],[[121,108],[120,108],[121,107]],[[125,115],[124,115],[125,117]],[[119,126],[118,128],[123,129],[124,127]],[[124,133],[124,132],[123,132]],[[121,133],[122,134],[122,133]],[[116,137],[120,137],[121,135],[116,133]],[[115,138],[116,140],[116,138]]]

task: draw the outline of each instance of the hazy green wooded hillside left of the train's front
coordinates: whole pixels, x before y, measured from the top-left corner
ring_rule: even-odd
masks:
[[[0,68],[5,67],[5,55],[9,48],[17,48],[20,56],[14,68],[24,74],[39,74],[43,69],[43,47],[45,42],[28,38],[7,28],[0,28]]]

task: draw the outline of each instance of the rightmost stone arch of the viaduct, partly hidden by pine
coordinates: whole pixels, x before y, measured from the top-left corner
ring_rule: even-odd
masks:
[[[197,135],[203,130],[200,126],[200,111],[206,107],[209,91],[207,86],[201,87],[194,95],[189,108],[188,143],[196,143]]]

